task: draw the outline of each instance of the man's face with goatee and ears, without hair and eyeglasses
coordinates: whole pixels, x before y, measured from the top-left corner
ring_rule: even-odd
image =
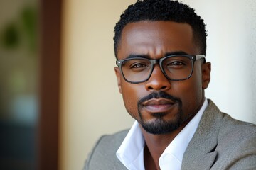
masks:
[[[130,55],[143,55],[159,59],[181,52],[201,55],[193,41],[191,26],[171,21],[140,21],[124,27],[117,57],[122,60]],[[197,60],[191,78],[183,81],[169,81],[159,64],[155,64],[149,80],[139,84],[125,81],[115,67],[119,92],[128,113],[153,134],[172,132],[186,125],[201,108],[203,89],[210,81],[210,63],[202,63]]]

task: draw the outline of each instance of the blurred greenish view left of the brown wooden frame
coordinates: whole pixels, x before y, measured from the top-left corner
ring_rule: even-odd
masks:
[[[0,1],[0,169],[36,168],[38,7]]]

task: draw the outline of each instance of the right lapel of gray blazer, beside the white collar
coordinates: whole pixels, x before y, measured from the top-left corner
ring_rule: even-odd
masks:
[[[213,166],[217,157],[215,148],[221,119],[217,106],[208,100],[208,107],[183,155],[181,169],[210,169]]]

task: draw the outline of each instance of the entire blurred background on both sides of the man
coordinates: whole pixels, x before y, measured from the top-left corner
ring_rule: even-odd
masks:
[[[0,169],[82,169],[101,135],[131,127],[114,25],[135,0],[0,0]],[[256,123],[256,1],[183,0],[208,30],[206,97]]]

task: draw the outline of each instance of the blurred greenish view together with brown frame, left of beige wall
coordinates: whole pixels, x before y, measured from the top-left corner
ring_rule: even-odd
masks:
[[[61,6],[0,0],[0,169],[58,169]]]

